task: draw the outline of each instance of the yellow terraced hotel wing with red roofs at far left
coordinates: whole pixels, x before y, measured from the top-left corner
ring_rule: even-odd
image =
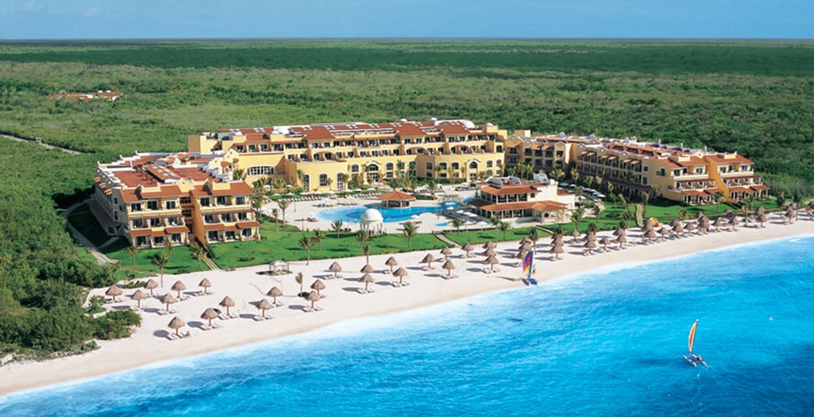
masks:
[[[212,155],[139,154],[99,163],[90,210],[105,232],[136,247],[259,237],[249,195]]]

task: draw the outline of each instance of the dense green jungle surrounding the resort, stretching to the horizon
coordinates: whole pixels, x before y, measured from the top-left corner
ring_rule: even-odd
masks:
[[[812,63],[812,41],[0,43],[0,133],[82,153],[0,140],[0,348],[92,349],[133,324],[85,314],[85,288],[115,273],[58,215],[97,161],[220,128],[435,116],[737,150],[774,192],[812,196]],[[99,89],[123,96],[46,97]]]

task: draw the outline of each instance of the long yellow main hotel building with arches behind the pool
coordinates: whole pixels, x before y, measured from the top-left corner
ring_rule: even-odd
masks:
[[[341,191],[404,175],[453,182],[500,175],[505,138],[492,124],[401,119],[204,132],[188,137],[188,150],[221,156],[249,184],[278,176],[305,191]]]

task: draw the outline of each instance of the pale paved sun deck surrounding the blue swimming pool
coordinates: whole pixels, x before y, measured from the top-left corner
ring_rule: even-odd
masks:
[[[472,191],[450,191],[444,190],[444,195],[451,195],[455,193],[459,198],[466,198],[472,194]],[[440,194],[438,194],[440,197]],[[343,208],[343,207],[352,207],[357,206],[362,208],[364,206],[379,206],[381,200],[376,197],[366,197],[366,198],[352,198],[352,199],[345,199],[345,198],[330,198],[330,202],[335,204],[335,206],[322,206],[325,204],[323,200],[311,200],[311,201],[298,201],[298,202],[291,202],[291,205],[288,206],[286,210],[286,223],[291,224],[297,228],[301,228],[306,231],[321,229],[324,231],[330,231],[330,224],[332,221],[319,219],[318,217],[314,217],[318,211],[326,210],[329,208]],[[414,202],[410,202],[410,206],[437,206],[440,203],[440,198],[433,200],[416,200]],[[347,203],[355,203],[352,205],[340,205],[339,202],[347,202]],[[276,202],[266,203],[262,207],[262,211],[264,213],[270,213],[272,209],[279,208]],[[309,219],[309,217],[311,219]],[[282,214],[280,214],[280,218],[282,218]],[[414,219],[414,223],[418,224],[418,232],[419,233],[428,233],[428,232],[435,232],[444,229],[451,229],[452,226],[449,226],[449,220],[451,218],[446,217],[444,215],[440,215],[439,213],[432,211],[427,213],[422,213],[418,215],[416,219]],[[483,220],[482,218],[475,218],[475,221]],[[385,232],[388,233],[399,233],[403,229],[401,228],[401,224],[404,221],[398,222],[391,222],[391,223],[384,223],[383,229]],[[444,223],[443,226],[438,224]],[[359,224],[349,224],[351,230],[356,232],[359,230]],[[491,227],[491,226],[488,226]],[[484,225],[476,225],[476,224],[467,224],[461,228],[461,230],[467,230],[470,228],[484,228]]]

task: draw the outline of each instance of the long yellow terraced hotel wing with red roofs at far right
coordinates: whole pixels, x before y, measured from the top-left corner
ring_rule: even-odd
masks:
[[[615,193],[648,192],[687,204],[711,204],[719,193],[728,202],[767,197],[769,187],[752,171],[753,163],[737,152],[638,142],[636,137],[585,139],[575,146],[577,172],[613,184]]]

